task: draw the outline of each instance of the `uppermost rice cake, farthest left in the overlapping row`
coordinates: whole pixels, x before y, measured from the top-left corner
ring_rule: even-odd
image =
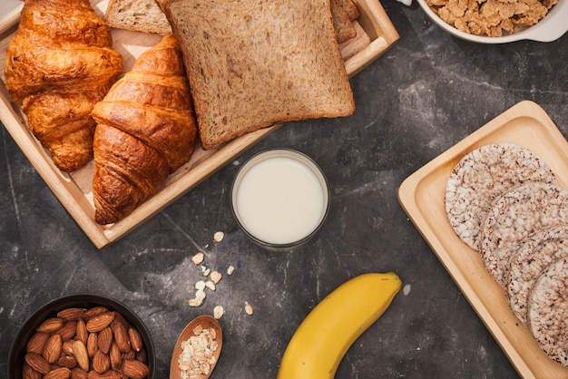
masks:
[[[494,143],[465,155],[446,184],[446,213],[457,236],[479,250],[481,224],[495,199],[528,180],[555,182],[544,160],[524,147]]]

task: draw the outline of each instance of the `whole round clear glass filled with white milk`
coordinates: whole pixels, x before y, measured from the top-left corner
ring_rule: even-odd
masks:
[[[240,228],[255,243],[291,250],[312,238],[326,219],[328,180],[302,152],[260,151],[240,168],[230,200]]]

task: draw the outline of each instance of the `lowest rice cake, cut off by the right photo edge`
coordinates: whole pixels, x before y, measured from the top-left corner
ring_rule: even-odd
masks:
[[[536,280],[528,321],[534,339],[554,361],[568,366],[568,258],[549,265]]]

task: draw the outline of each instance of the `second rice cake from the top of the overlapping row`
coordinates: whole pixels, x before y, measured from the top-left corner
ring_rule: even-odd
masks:
[[[507,190],[495,201],[482,227],[485,268],[504,287],[509,259],[518,243],[540,230],[568,224],[568,190],[529,181]]]

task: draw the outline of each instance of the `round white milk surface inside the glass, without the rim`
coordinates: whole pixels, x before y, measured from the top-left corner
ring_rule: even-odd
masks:
[[[242,226],[269,244],[306,238],[324,218],[327,187],[304,163],[286,156],[260,160],[246,170],[236,193]]]

